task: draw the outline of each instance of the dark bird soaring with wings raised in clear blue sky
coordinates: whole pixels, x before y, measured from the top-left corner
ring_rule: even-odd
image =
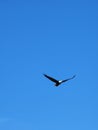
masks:
[[[68,78],[68,79],[65,79],[65,80],[57,80],[55,78],[52,78],[46,74],[43,74],[46,78],[48,78],[49,80],[53,81],[55,83],[55,86],[58,87],[60,84],[64,83],[64,82],[67,82],[68,80],[71,80],[73,78],[76,77],[76,75],[73,75],[71,78]]]

